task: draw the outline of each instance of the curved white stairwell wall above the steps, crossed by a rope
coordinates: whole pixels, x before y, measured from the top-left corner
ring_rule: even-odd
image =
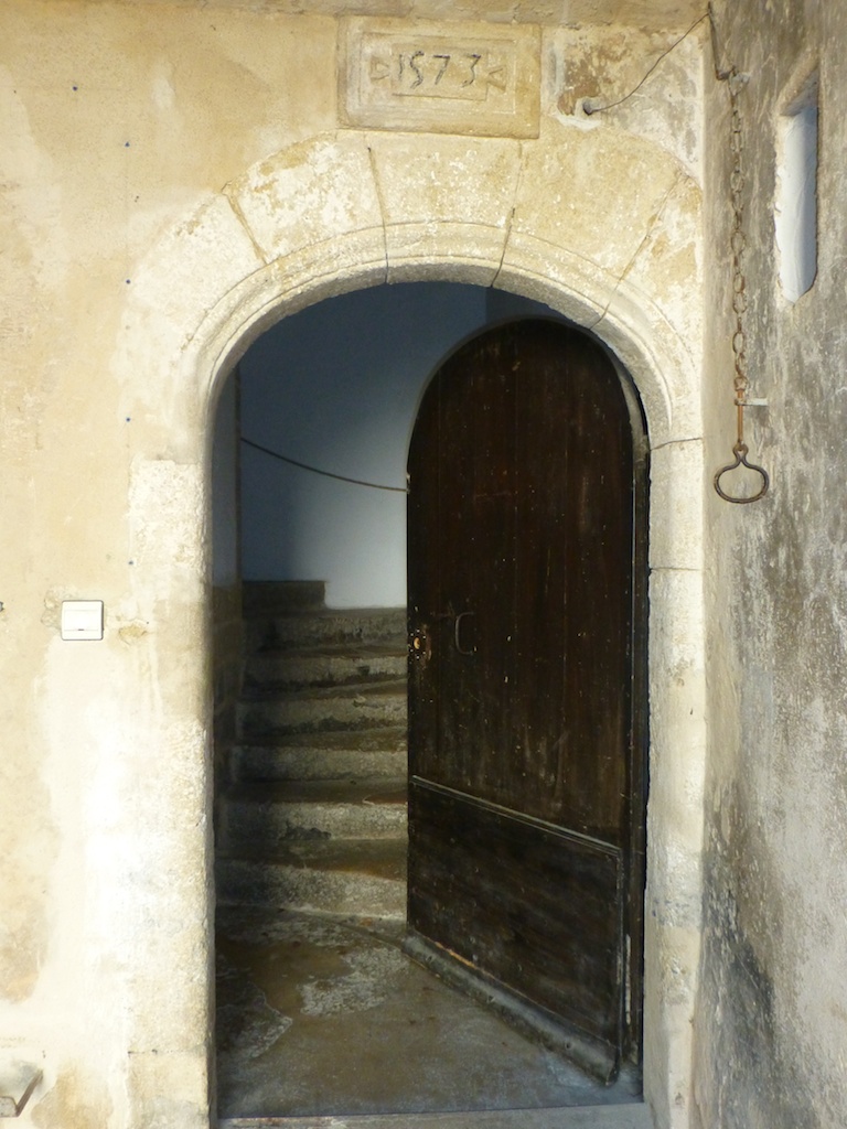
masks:
[[[405,485],[435,369],[488,322],[547,312],[448,282],[330,298],[264,333],[241,362],[242,434],[298,462]],[[405,496],[339,482],[242,445],[243,575],[325,580],[334,607],[405,604]]]

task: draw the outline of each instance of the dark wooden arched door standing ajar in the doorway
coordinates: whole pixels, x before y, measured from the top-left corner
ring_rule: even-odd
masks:
[[[553,321],[437,373],[409,455],[408,948],[611,1077],[637,1058],[640,417]]]

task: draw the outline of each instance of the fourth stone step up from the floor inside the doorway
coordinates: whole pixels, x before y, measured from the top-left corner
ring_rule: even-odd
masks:
[[[237,707],[242,738],[257,735],[369,729],[404,725],[405,681],[351,683],[346,686],[277,693],[245,691]]]

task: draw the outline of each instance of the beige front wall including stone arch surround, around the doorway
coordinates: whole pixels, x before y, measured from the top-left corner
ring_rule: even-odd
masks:
[[[445,278],[591,326],[640,391],[654,447],[645,1070],[656,1124],[689,1124],[704,28],[619,111],[579,108],[621,97],[678,38],[691,14],[670,7],[672,34],[545,17],[538,139],[340,129],[332,6],[0,11],[14,531],[0,545],[0,1053],[44,1069],[21,1123],[209,1124],[215,396],[277,317]],[[104,601],[103,641],[60,639],[75,597]]]

